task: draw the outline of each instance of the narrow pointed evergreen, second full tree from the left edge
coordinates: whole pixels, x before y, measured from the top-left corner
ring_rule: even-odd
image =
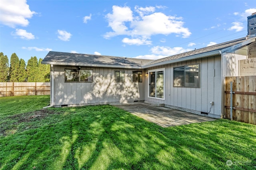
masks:
[[[20,60],[16,53],[13,53],[11,56],[10,62],[10,82],[18,82],[19,77],[19,67],[20,67]]]

